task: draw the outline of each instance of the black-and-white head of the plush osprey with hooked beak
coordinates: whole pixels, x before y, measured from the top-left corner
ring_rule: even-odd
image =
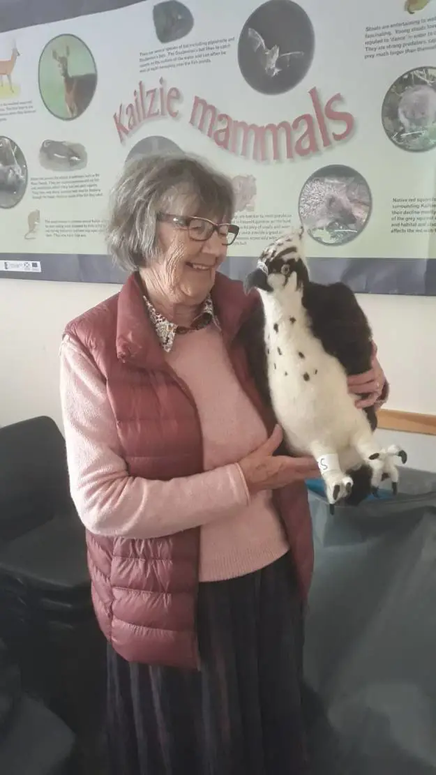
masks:
[[[287,294],[303,291],[309,282],[300,226],[279,237],[261,253],[256,269],[245,279],[245,291],[256,288],[260,294]]]

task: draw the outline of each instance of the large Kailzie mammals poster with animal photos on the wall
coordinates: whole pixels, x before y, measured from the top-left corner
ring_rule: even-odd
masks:
[[[134,157],[232,178],[243,277],[302,222],[314,279],[436,294],[436,0],[0,0],[0,277],[119,281]]]

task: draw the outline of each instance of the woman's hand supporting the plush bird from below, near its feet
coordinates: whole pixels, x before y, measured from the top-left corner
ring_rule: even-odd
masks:
[[[319,469],[313,457],[273,456],[282,440],[282,429],[276,425],[262,446],[239,461],[250,494],[254,495],[261,490],[277,490],[292,482],[319,477]]]

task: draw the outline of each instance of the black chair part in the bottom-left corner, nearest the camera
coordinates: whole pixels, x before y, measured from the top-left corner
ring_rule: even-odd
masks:
[[[22,694],[18,667],[0,641],[0,773],[77,775],[76,762],[73,732]]]

